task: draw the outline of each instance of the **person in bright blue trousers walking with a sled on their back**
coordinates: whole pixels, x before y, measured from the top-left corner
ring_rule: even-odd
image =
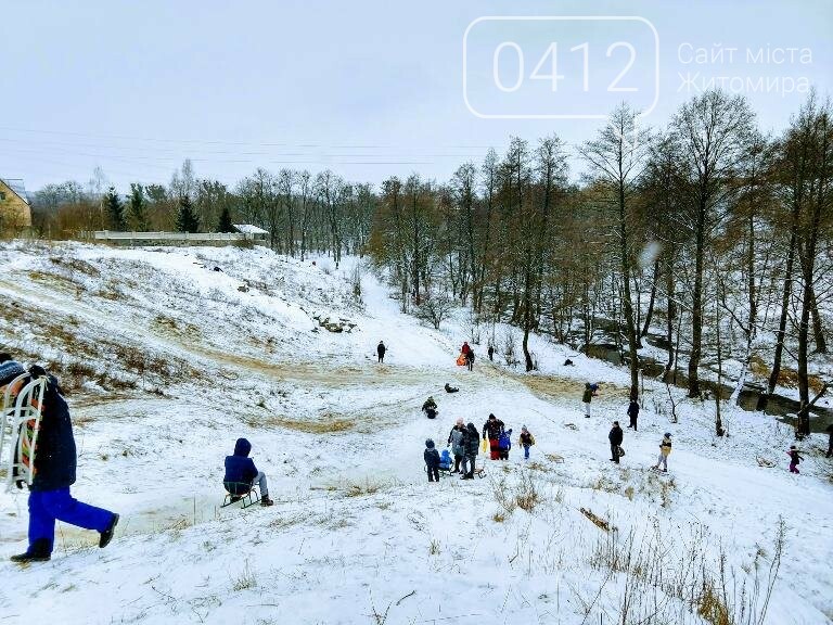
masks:
[[[8,354],[0,355],[0,388],[18,375],[23,367]],[[46,562],[52,557],[55,521],[99,532],[99,547],[113,539],[118,514],[75,499],[69,487],[75,484],[76,449],[69,408],[54,375],[38,366],[29,370],[33,378],[47,378],[41,407],[40,430],[35,447],[35,463],[29,485],[29,546],[24,553],[12,556],[13,562]],[[23,488],[24,482],[15,482]]]

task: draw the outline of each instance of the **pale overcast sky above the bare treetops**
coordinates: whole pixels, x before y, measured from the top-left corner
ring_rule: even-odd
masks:
[[[443,181],[510,136],[556,132],[575,144],[602,123],[520,115],[599,115],[628,100],[661,126],[714,78],[746,93],[761,127],[777,132],[806,98],[799,89],[833,90],[826,0],[0,0],[0,177],[24,179],[30,192],[86,184],[95,166],[121,190],[167,183],[183,158],[230,186],[258,166]],[[642,20],[476,22],[511,15]],[[552,75],[563,76],[555,91]]]

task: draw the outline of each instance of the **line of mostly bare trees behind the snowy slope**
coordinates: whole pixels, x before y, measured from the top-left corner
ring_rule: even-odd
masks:
[[[811,93],[769,136],[742,95],[712,90],[666,127],[642,127],[621,104],[581,144],[512,138],[444,182],[412,173],[373,188],[329,170],[257,169],[229,189],[185,162],[169,184],[134,183],[127,196],[49,186],[36,194],[35,221],[53,237],[253,224],[273,250],[300,258],[369,254],[402,310],[435,324],[459,304],[516,326],[527,370],[533,332],[581,348],[601,336],[624,355],[636,398],[638,349],[653,341],[666,353],[664,378],[692,397],[704,368],[720,381],[729,358],[741,365],[735,398],[759,368],[771,395],[794,362],[807,408],[824,391],[808,363],[828,350],[833,289],[831,114]],[[584,163],[577,180],[571,154]]]

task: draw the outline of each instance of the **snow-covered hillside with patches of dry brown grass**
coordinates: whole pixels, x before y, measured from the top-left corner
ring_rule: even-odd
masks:
[[[791,475],[791,433],[773,418],[728,411],[729,436],[716,438],[710,405],[683,400],[670,423],[665,388],[646,382],[640,430],[626,430],[614,465],[606,435],[613,419],[627,422],[623,369],[534,337],[541,371],[526,375],[488,362],[492,329],[480,328],[475,371],[464,371],[454,358],[471,339],[466,314],[434,331],[400,315],[367,272],[357,304],[355,262],[0,247],[0,345],[64,375],[74,493],[123,519],[105,550],[61,525],[51,562],[0,562],[0,623],[569,625],[621,622],[626,608],[627,623],[651,612],[654,623],[719,622],[676,582],[694,569],[718,577],[722,553],[735,611],[756,572],[759,610],[779,518],[786,544],[766,623],[833,618],[821,436],[803,444],[807,461]],[[357,326],[330,333],[321,315]],[[500,343],[507,329],[494,331]],[[562,366],[567,356],[575,367]],[[603,382],[589,420],[585,381]],[[445,382],[460,393],[446,395]],[[428,395],[436,421],[419,410]],[[508,462],[479,458],[484,480],[428,484],[425,438],[443,447],[458,417],[479,429],[489,412],[515,435],[529,428],[531,460],[513,449]],[[675,450],[663,475],[649,467],[666,431]],[[238,436],[252,441],[273,508],[218,508]],[[517,507],[531,489],[535,506]],[[0,495],[0,556],[25,548],[25,494]]]

